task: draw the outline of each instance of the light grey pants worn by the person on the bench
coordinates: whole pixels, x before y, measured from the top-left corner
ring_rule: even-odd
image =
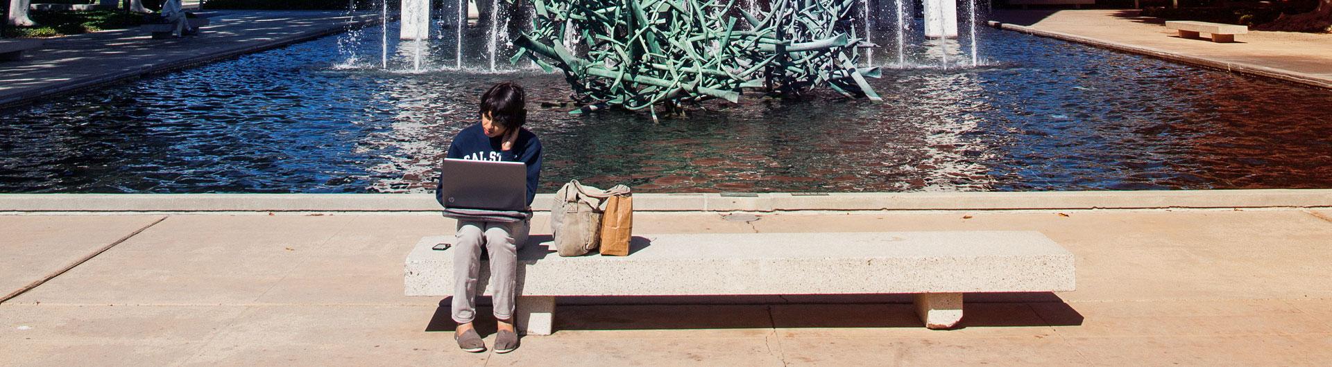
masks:
[[[530,226],[530,221],[458,221],[458,242],[453,246],[453,320],[469,323],[477,318],[477,273],[481,270],[481,246],[485,246],[490,257],[494,315],[511,322],[518,247],[527,242]]]

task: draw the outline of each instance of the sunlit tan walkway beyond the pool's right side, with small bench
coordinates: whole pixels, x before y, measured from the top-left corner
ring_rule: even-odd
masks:
[[[1251,31],[1217,44],[1180,39],[1136,9],[995,11],[990,19],[1007,29],[1332,88],[1332,35]]]

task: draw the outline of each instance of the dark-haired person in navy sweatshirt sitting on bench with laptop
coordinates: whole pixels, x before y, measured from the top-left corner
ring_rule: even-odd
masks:
[[[523,162],[527,168],[527,219],[518,222],[458,221],[457,243],[453,246],[453,320],[458,323],[454,339],[469,352],[486,350],[485,342],[473,327],[476,319],[477,273],[481,249],[490,258],[490,287],[497,320],[496,352],[509,352],[518,347],[513,311],[514,283],[518,271],[518,247],[527,241],[530,206],[541,177],[541,141],[523,129],[527,109],[522,86],[500,82],[481,96],[481,122],[468,126],[453,137],[448,158],[476,161]],[[444,177],[440,182],[442,189]],[[441,205],[445,202],[441,199]]]

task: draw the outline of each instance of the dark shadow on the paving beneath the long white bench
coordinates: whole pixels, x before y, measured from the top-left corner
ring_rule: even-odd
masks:
[[[922,328],[911,299],[911,295],[900,294],[561,297],[557,301],[561,306],[557,306],[555,331]],[[440,302],[426,331],[454,330],[449,301]],[[1054,293],[967,294],[964,307],[966,315],[954,330],[1083,324],[1083,315]],[[490,310],[478,307],[477,315],[478,332],[494,332]]]

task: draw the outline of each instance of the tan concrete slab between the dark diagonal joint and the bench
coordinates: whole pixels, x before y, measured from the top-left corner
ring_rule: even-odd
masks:
[[[11,302],[244,305],[350,219],[174,215]]]

